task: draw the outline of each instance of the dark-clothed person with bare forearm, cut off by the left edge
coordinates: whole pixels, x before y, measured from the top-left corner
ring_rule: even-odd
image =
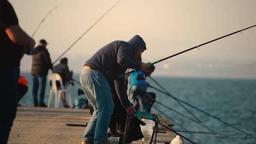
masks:
[[[16,13],[7,0],[0,0],[0,144],[7,144],[17,111],[18,77],[24,46],[35,41],[18,25]]]

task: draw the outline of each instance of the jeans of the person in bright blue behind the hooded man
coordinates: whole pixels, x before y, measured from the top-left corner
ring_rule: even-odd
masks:
[[[143,85],[134,85],[130,89],[129,97],[134,101],[134,108],[143,112],[150,113],[149,104],[146,98],[146,87]]]

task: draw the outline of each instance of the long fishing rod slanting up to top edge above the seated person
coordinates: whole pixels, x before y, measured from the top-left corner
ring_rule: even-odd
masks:
[[[95,22],[91,25],[91,27],[89,27],[80,37],[78,37],[78,39],[76,39],[76,40],[73,42],[73,44],[70,45],[70,46],[64,51],[64,53],[61,54],[61,55],[55,60],[55,62],[53,63],[53,65],[54,65],[64,54],[66,54],[66,52],[67,52],[68,50],[70,50],[71,47],[73,47],[73,45],[75,45],[75,44],[82,38],[82,36],[84,36],[87,32],[89,32],[92,27],[94,27],[102,18],[104,18],[104,17],[110,12],[110,10],[113,9],[120,1],[121,1],[121,0],[118,0],[110,9],[108,9],[108,10],[106,11],[97,21],[95,21]]]

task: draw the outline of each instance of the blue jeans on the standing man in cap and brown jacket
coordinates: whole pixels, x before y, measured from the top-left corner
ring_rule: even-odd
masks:
[[[37,100],[37,92],[40,85],[40,93],[39,93],[39,105],[44,104],[45,99],[45,91],[46,91],[46,75],[33,75],[33,101],[34,106],[38,106],[38,100]]]

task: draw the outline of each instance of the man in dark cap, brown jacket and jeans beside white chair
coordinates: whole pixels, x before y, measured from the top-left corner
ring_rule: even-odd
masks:
[[[49,69],[52,70],[53,64],[50,54],[46,49],[47,42],[44,39],[39,41],[32,55],[31,75],[33,75],[33,101],[34,107],[38,106],[37,92],[39,90],[39,107],[47,107],[44,103],[46,90],[46,76]]]

